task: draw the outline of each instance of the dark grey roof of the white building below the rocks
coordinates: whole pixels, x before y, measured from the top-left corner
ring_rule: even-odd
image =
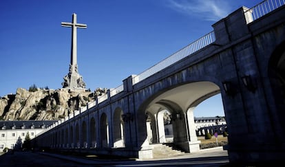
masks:
[[[56,120],[0,121],[0,131],[9,129],[45,129]]]

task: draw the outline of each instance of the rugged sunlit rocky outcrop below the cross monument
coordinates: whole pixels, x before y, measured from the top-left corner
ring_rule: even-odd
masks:
[[[101,88],[94,92],[70,89],[28,91],[18,88],[15,95],[7,95],[0,99],[0,118],[2,120],[59,120],[105,93],[107,89]]]

